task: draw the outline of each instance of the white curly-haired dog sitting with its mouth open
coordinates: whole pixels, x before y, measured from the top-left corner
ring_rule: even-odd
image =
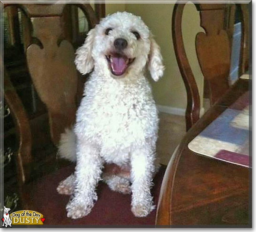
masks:
[[[163,75],[160,48],[139,16],[117,12],[89,31],[75,64],[82,74],[92,73],[74,130],[66,130],[59,145],[61,157],[76,161],[74,174],[57,188],[72,194],[67,216],[91,212],[104,163],[130,170],[127,176],[103,175],[104,181],[114,191],[132,192],[132,212],[147,216],[154,209],[150,187],[159,167],[159,119],[144,73],[147,66],[155,81]]]

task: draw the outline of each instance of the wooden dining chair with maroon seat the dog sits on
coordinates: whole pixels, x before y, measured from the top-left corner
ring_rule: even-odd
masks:
[[[7,4],[4,7],[13,6]],[[4,71],[4,98],[13,116],[19,138],[17,177],[20,210],[34,210],[45,217],[44,224],[55,225],[154,225],[156,210],[148,217],[136,218],[131,212],[131,196],[112,192],[107,185],[97,187],[98,201],[92,212],[82,219],[67,218],[65,206],[69,196],[60,195],[58,183],[74,172],[75,164],[56,159],[60,134],[75,121],[76,109],[82,97],[84,77],[76,71],[74,49],[81,35],[70,26],[69,4],[18,4],[27,16],[25,71],[35,91],[35,112],[25,107],[19,94],[19,84],[13,80],[13,62]],[[98,22],[89,4],[75,4],[87,18],[89,29]],[[96,7],[97,8],[97,7]],[[101,13],[104,10],[98,7]],[[97,14],[98,15],[98,14]],[[70,28],[72,33],[70,33]],[[84,40],[84,38],[83,38]],[[82,42],[83,42],[82,40]],[[20,79],[22,80],[22,79]],[[32,92],[33,92],[32,91]],[[27,92],[26,92],[27,93]],[[42,105],[39,107],[39,105]],[[42,110],[38,110],[42,108]],[[160,192],[162,167],[154,179],[155,203]]]

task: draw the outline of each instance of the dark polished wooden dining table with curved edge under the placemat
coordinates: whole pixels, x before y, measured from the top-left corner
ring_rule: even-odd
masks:
[[[188,148],[189,142],[245,93],[251,105],[251,86],[251,80],[239,79],[182,139],[163,177],[157,227],[252,227],[252,168]],[[249,133],[251,138],[251,128]],[[251,156],[249,159],[251,164]]]

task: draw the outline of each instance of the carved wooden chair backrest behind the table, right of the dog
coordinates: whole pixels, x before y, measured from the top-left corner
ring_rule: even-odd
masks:
[[[186,4],[176,3],[173,10],[172,34],[174,51],[187,91],[186,128],[189,130],[200,115],[200,97],[182,38],[182,14]],[[234,4],[195,4],[200,11],[200,32],[195,39],[197,58],[210,91],[210,104],[214,104],[228,90],[232,35],[234,29]],[[248,5],[248,4],[247,4]],[[248,23],[245,4],[237,4],[242,13],[242,39],[240,46],[240,74],[248,66]]]

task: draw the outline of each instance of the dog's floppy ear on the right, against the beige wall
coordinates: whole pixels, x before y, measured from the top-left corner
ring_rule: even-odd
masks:
[[[160,53],[160,47],[154,40],[153,36],[150,35],[150,52],[148,57],[148,70],[154,81],[158,81],[163,76],[163,57]]]

